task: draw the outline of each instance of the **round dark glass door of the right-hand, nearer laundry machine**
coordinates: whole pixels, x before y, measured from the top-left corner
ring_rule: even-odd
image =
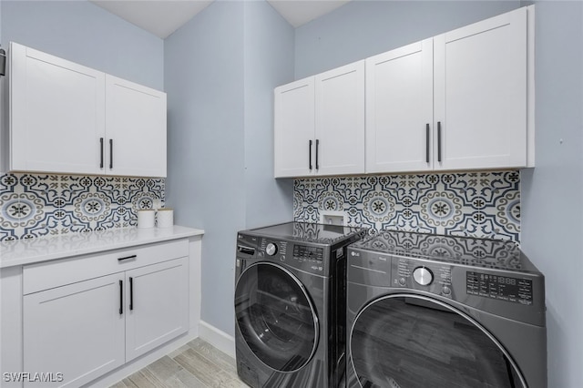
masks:
[[[366,388],[518,388],[527,385],[496,339],[469,316],[419,295],[372,301],[350,338]]]

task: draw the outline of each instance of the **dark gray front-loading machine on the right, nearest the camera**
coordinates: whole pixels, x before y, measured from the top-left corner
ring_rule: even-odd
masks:
[[[547,387],[545,280],[514,242],[355,242],[347,329],[350,388]]]

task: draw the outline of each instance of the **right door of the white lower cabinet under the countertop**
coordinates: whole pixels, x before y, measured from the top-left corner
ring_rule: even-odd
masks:
[[[189,330],[187,258],[126,272],[126,360]]]

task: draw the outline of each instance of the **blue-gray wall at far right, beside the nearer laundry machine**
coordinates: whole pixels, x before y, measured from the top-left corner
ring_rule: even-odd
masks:
[[[546,276],[548,387],[583,387],[583,3],[536,3],[537,167],[522,248]]]

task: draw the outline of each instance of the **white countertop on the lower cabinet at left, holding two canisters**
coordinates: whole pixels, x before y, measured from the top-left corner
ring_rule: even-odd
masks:
[[[204,230],[123,228],[0,242],[0,268],[200,236]]]

